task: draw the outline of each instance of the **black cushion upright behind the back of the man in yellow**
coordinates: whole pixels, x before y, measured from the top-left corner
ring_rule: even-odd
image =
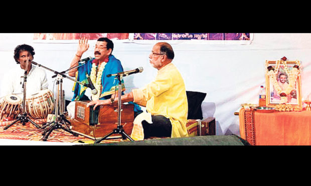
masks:
[[[188,117],[187,119],[203,119],[202,102],[207,93],[198,91],[186,91],[188,99]]]

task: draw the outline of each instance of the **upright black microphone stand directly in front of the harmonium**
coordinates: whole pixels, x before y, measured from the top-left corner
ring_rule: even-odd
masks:
[[[114,75],[114,74],[113,74]],[[122,139],[125,139],[125,137],[127,137],[129,140],[133,141],[133,139],[127,135],[123,129],[123,126],[121,125],[121,80],[123,78],[123,73],[117,73],[115,74],[117,79],[119,80],[119,83],[118,83],[118,87],[119,87],[119,91],[118,91],[118,122],[117,122],[117,127],[115,129],[113,129],[112,132],[108,133],[107,135],[103,136],[102,138],[96,140],[94,143],[99,143],[100,141],[106,139],[107,137],[109,137],[110,135],[112,134],[115,134],[115,133],[119,133],[119,134],[122,134]]]

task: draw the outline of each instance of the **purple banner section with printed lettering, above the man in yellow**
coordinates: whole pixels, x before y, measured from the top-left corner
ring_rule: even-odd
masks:
[[[134,40],[249,40],[249,33],[134,33]]]

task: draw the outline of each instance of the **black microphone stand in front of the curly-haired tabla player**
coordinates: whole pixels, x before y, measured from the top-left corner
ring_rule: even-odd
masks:
[[[24,73],[24,82],[23,82],[23,89],[24,89],[24,96],[23,96],[23,113],[20,114],[17,118],[17,120],[15,120],[14,122],[12,122],[11,124],[7,124],[4,129],[8,129],[10,126],[12,126],[13,124],[17,123],[18,121],[21,121],[23,125],[25,125],[28,121],[31,122],[33,125],[35,125],[37,128],[40,128],[40,126],[38,124],[36,124],[33,120],[31,120],[29,118],[29,116],[27,115],[26,112],[26,82],[27,82],[27,69],[28,69],[28,62],[26,64],[26,69],[25,69],[25,73]]]

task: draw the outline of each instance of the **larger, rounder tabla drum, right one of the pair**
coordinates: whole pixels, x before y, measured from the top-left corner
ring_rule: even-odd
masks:
[[[36,119],[46,119],[54,111],[54,96],[51,90],[44,89],[32,94],[25,101],[26,112]]]

